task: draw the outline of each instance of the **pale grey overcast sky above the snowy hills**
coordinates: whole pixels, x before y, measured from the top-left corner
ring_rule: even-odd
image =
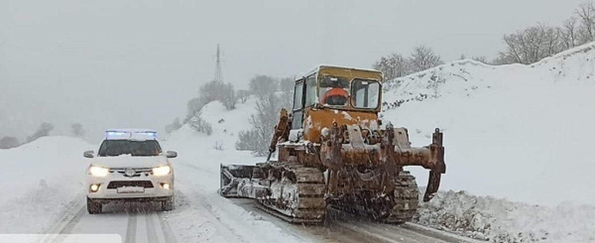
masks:
[[[420,43],[444,61],[491,59],[504,33],[559,25],[581,2],[0,0],[0,89],[62,117],[58,132],[73,121],[96,134],[130,123],[162,130],[213,78],[217,43],[224,80],[246,88],[255,74],[370,67]],[[12,133],[0,127],[23,136]]]

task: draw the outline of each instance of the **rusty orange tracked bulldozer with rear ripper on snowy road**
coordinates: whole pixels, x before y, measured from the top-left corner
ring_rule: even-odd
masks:
[[[422,199],[429,201],[446,173],[443,133],[436,128],[430,145],[412,147],[406,128],[378,117],[382,85],[381,71],[364,68],[320,65],[299,76],[267,160],[221,164],[218,193],[253,198],[292,223],[322,222],[328,207],[386,223],[411,221],[419,189],[403,167],[430,170]]]

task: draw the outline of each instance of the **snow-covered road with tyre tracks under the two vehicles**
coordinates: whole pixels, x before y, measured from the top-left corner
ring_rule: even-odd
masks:
[[[217,171],[177,161],[176,173],[173,211],[131,203],[108,204],[104,213],[88,214],[80,194],[45,233],[117,234],[123,242],[472,242],[419,225],[387,225],[332,209],[322,225],[292,225],[253,200],[223,198],[213,183],[201,183],[218,183]],[[52,236],[45,242],[61,241]]]

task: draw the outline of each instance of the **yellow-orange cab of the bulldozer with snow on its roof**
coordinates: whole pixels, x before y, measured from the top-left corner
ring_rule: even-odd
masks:
[[[292,129],[303,129],[303,139],[320,142],[321,130],[333,123],[378,126],[382,98],[381,71],[318,66],[296,80]]]

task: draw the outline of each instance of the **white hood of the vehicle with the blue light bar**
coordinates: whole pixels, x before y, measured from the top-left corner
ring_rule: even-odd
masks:
[[[111,157],[95,157],[92,164],[95,166],[108,168],[121,167],[156,167],[167,164],[167,157],[165,155],[158,156],[131,156],[120,155]]]

